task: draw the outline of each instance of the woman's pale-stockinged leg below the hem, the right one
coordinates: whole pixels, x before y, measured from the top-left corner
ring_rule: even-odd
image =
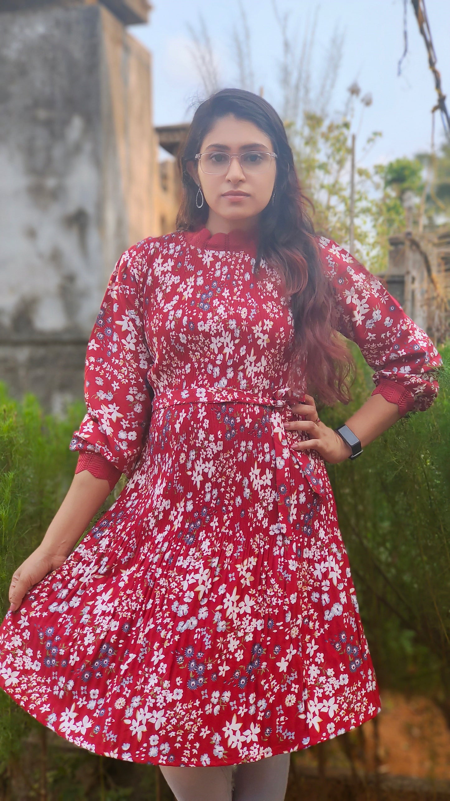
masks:
[[[290,757],[275,754],[258,762],[240,763],[234,775],[233,801],[284,801]]]

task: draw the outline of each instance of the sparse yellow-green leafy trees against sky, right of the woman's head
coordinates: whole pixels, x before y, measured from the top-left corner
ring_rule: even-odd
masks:
[[[311,199],[315,230],[349,247],[351,115],[337,119],[305,112],[296,127],[286,123],[303,192]],[[358,146],[356,163],[381,136],[374,131]],[[407,205],[409,211],[407,211]],[[408,222],[407,222],[408,214]],[[395,159],[370,169],[356,167],[353,255],[372,272],[388,267],[389,237],[432,230],[450,219],[450,147],[440,156]]]

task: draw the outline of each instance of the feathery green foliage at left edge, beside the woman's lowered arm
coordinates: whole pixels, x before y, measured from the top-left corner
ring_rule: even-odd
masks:
[[[64,420],[46,416],[37,400],[22,403],[0,384],[0,608],[9,607],[14,570],[42,541],[69,488],[76,454],[69,451],[74,429],[84,414],[80,402]],[[0,692],[0,768],[34,725],[10,696]]]

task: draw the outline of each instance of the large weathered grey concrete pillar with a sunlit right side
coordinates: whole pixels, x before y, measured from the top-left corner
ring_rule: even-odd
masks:
[[[124,26],[144,21],[147,2],[2,11],[0,379],[57,410],[82,397],[115,261],[159,232],[151,56]]]

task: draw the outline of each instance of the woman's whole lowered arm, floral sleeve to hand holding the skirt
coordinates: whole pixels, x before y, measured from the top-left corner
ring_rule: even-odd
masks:
[[[15,570],[11,610],[31,586],[57,570],[122,473],[131,476],[151,418],[151,364],[144,316],[159,240],[144,239],[120,257],[110,276],[86,352],[86,415],[70,442],[80,452],[62,505],[38,548]]]

